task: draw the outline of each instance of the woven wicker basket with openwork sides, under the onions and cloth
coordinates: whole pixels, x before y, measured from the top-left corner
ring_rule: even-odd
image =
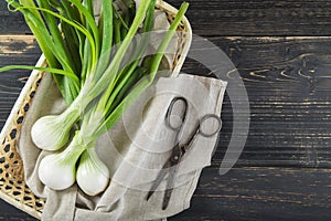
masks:
[[[170,22],[173,21],[178,12],[175,8],[161,0],[157,2],[157,8],[166,12]],[[179,74],[191,45],[192,30],[186,18],[182,20],[179,31],[178,51],[173,60],[171,76]],[[45,65],[43,56],[40,57],[36,65]],[[41,219],[45,199],[34,196],[26,186],[23,162],[15,145],[24,124],[24,116],[32,105],[32,99],[38,93],[38,86],[43,75],[43,72],[38,71],[31,73],[0,134],[0,198],[36,219]]]

